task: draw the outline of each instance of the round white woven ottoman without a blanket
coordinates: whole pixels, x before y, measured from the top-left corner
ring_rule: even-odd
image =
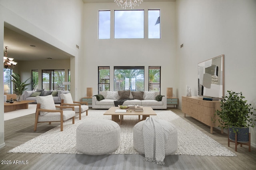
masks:
[[[119,145],[120,126],[112,120],[89,120],[76,129],[76,148],[83,154],[109,154]]]

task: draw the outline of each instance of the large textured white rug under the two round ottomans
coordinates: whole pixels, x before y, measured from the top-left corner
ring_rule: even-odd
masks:
[[[233,152],[174,114],[170,110],[155,110],[158,119],[172,122],[178,129],[178,149],[175,155],[195,156],[236,156]],[[89,110],[88,116],[82,114],[82,120],[76,117],[64,123],[64,130],[60,126],[10,150],[8,153],[49,153],[49,154],[81,154],[76,150],[76,128],[79,124],[92,119],[110,119],[103,115],[106,110]],[[133,147],[133,127],[138,123],[138,116],[124,116],[121,128],[120,146],[111,154],[140,154]]]

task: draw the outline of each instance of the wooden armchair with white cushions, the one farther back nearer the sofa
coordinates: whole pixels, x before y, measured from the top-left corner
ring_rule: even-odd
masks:
[[[74,102],[70,93],[60,94],[60,99],[60,106],[74,106],[75,112],[79,113],[79,120],[81,120],[82,112],[86,111],[86,116],[88,116],[88,102]]]

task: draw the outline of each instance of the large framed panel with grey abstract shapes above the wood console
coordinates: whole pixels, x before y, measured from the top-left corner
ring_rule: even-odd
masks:
[[[198,63],[198,96],[224,96],[224,55]]]

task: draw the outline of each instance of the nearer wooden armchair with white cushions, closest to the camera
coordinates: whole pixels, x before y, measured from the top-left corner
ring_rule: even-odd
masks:
[[[60,131],[63,131],[63,122],[72,119],[75,123],[76,113],[74,106],[56,106],[52,95],[36,96],[36,119],[34,131],[36,131],[39,122],[60,122]],[[57,110],[56,108],[59,108]],[[64,108],[71,108],[71,110],[63,110]]]

